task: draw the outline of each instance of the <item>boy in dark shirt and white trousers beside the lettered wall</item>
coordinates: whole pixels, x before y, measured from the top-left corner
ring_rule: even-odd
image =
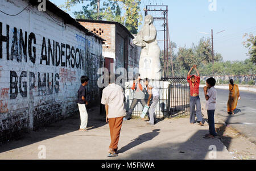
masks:
[[[88,120],[88,113],[85,107],[85,104],[88,105],[88,102],[86,101],[86,89],[85,86],[88,84],[89,78],[87,76],[81,77],[81,86],[79,90],[77,91],[77,105],[79,106],[79,112],[80,112],[80,129],[79,131],[88,131],[86,130],[87,127],[87,120]]]

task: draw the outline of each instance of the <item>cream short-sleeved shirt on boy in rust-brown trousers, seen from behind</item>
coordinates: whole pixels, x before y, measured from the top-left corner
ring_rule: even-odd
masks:
[[[121,86],[116,84],[109,84],[102,91],[101,103],[109,105],[108,118],[119,118],[126,116],[125,95]]]

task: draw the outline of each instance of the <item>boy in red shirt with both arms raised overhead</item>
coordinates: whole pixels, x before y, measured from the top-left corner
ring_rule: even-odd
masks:
[[[190,75],[191,71],[195,68],[197,76],[193,74]],[[190,123],[195,123],[195,106],[196,106],[196,118],[197,122],[200,122],[199,124],[201,126],[204,126],[203,117],[201,113],[201,102],[199,98],[199,85],[200,85],[200,74],[196,68],[196,65],[193,65],[193,67],[188,72],[187,81],[189,83],[190,87],[190,98],[189,98],[189,105],[190,105]]]

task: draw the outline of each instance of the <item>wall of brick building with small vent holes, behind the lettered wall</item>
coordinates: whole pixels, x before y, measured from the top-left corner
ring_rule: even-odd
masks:
[[[80,22],[82,26],[105,39],[102,55],[114,59],[114,72],[118,68],[126,68],[127,74],[133,77],[138,73],[141,47],[132,43],[130,34],[119,24]],[[134,69],[136,68],[136,69]]]

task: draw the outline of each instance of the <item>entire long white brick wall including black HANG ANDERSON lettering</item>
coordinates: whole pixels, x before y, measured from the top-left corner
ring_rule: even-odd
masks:
[[[13,14],[27,5],[10,0],[0,8]],[[74,114],[83,75],[88,101],[100,102],[100,39],[47,13],[55,20],[35,6],[17,16],[0,13],[0,141]]]

